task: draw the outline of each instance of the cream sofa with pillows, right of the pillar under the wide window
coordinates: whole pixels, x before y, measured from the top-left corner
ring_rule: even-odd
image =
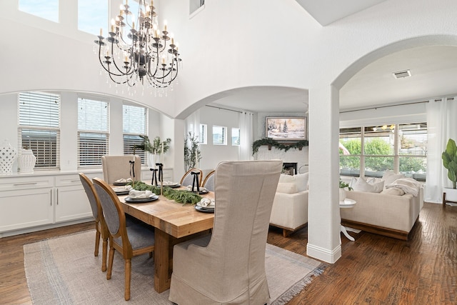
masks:
[[[411,179],[383,177],[386,185],[380,193],[366,190],[346,191],[346,198],[356,201],[350,209],[340,209],[341,224],[374,234],[408,240],[423,206],[423,187]],[[406,186],[409,184],[409,186]],[[413,189],[413,184],[416,184]],[[404,185],[404,186],[403,186]],[[406,194],[404,191],[409,192]],[[415,196],[416,195],[416,196]]]

